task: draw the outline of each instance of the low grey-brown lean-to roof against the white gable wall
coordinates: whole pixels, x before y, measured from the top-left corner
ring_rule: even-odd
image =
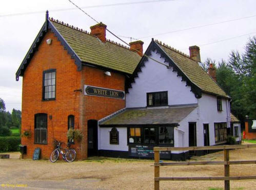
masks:
[[[195,108],[196,106],[126,109],[100,125],[178,124]]]

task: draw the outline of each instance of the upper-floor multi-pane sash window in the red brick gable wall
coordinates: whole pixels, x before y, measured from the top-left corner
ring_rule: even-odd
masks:
[[[43,72],[43,100],[55,100],[56,69]]]

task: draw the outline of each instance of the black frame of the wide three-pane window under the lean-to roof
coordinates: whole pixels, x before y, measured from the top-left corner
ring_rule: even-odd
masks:
[[[160,141],[159,141],[159,135],[160,135],[160,130],[161,130],[161,127],[172,127],[172,144],[161,144]],[[159,146],[168,146],[168,147],[174,147],[174,127],[175,126],[172,126],[172,125],[141,125],[141,126],[130,126],[130,127],[127,127],[127,145],[147,145],[147,146],[150,146],[150,145],[159,145]],[[130,128],[140,128],[141,129],[141,143],[130,143],[129,142],[129,138],[132,137],[130,136]],[[146,128],[154,128],[155,130],[155,143],[145,143],[145,129]]]

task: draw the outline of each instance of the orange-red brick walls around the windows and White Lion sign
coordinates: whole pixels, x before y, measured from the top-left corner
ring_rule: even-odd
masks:
[[[48,45],[46,39],[51,38]],[[56,98],[42,100],[43,71],[56,69]],[[53,140],[60,140],[62,147],[67,145],[68,115],[75,116],[75,129],[83,133],[81,143],[71,145],[77,152],[77,159],[87,158],[87,122],[101,118],[125,107],[125,100],[105,97],[85,96],[84,85],[125,90],[125,77],[104,70],[83,66],[77,71],[74,59],[50,30],[38,46],[23,76],[22,92],[22,131],[31,130],[31,137],[22,137],[22,145],[27,146],[24,158],[32,158],[35,148],[41,148],[41,158],[49,159],[53,150]],[[81,91],[74,91],[82,89]],[[47,145],[34,144],[34,115],[47,113]],[[52,115],[50,120],[49,115]]]

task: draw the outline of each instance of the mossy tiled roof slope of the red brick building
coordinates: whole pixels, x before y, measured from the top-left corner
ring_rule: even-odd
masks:
[[[132,74],[141,57],[120,44],[98,38],[63,22],[50,20],[82,62]]]

